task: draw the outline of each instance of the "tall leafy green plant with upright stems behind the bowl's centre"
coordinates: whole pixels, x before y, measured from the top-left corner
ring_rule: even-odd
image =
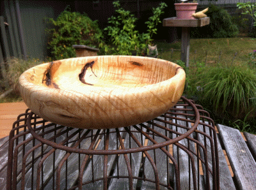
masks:
[[[113,2],[117,8],[117,16],[109,18],[109,26],[104,30],[108,32],[109,44],[103,45],[106,54],[112,55],[145,55],[148,44],[152,43],[153,34],[157,33],[157,24],[161,23],[160,15],[164,13],[163,9],[167,6],[161,3],[159,7],[153,8],[153,16],[148,19],[147,33],[140,34],[136,31],[137,18],[130,11],[120,7],[119,1]]]

